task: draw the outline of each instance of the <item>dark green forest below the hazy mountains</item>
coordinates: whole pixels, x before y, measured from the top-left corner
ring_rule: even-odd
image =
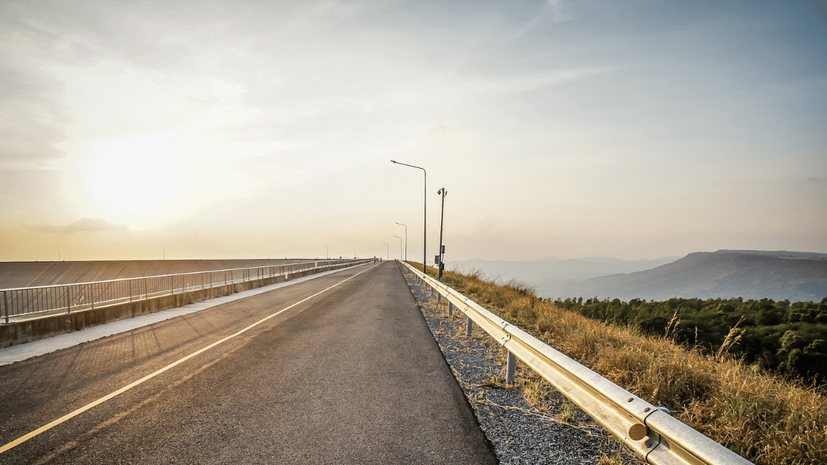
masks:
[[[827,297],[819,303],[789,300],[633,299],[556,300],[592,319],[668,336],[708,353],[726,350],[754,371],[822,383],[827,376]]]

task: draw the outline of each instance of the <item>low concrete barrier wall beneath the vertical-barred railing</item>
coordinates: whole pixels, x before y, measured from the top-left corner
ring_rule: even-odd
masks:
[[[308,276],[320,271],[338,270],[351,266],[350,263],[343,263],[338,266],[330,266],[323,270],[296,271],[290,273],[290,278]],[[7,348],[16,344],[27,343],[41,338],[49,338],[58,334],[72,333],[83,328],[90,328],[98,324],[107,324],[118,319],[127,319],[142,314],[152,314],[161,310],[174,309],[186,304],[192,304],[202,300],[231,295],[243,290],[251,290],[265,285],[272,285],[284,282],[284,275],[249,280],[246,282],[233,283],[231,285],[218,285],[206,289],[190,290],[181,294],[161,295],[147,300],[136,300],[124,304],[114,304],[95,309],[80,310],[69,314],[56,314],[40,318],[15,321],[7,324],[0,324],[0,348]]]

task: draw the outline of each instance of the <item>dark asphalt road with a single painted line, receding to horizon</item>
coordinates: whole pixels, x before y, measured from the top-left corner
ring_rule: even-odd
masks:
[[[0,380],[4,464],[496,463],[394,262],[3,366]]]

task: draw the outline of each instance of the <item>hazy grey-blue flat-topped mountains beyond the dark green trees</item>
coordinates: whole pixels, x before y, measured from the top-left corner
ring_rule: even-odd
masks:
[[[502,280],[533,285],[538,295],[667,300],[743,297],[819,301],[827,296],[827,254],[719,250],[651,261],[579,260],[457,262]],[[590,275],[590,276],[589,276]]]

